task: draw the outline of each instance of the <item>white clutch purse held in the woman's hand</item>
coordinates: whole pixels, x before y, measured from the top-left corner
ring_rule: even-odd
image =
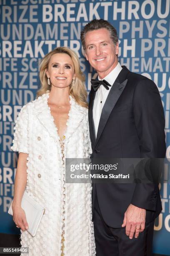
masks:
[[[12,203],[8,210],[10,215],[13,215]],[[26,219],[28,222],[27,231],[32,236],[35,236],[38,226],[40,225],[42,215],[45,212],[45,208],[39,205],[39,203],[37,203],[35,200],[32,200],[26,191],[24,192],[23,199],[21,201],[21,207],[25,211]]]

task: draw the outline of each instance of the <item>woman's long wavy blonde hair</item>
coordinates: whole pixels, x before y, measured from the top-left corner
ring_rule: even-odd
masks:
[[[48,69],[48,64],[50,62],[50,58],[53,54],[63,53],[68,54],[72,59],[75,69],[75,84],[70,84],[69,95],[71,95],[77,104],[82,107],[87,108],[87,90],[85,87],[85,76],[80,69],[80,62],[78,59],[77,54],[75,51],[72,51],[70,48],[67,47],[57,47],[54,50],[50,51],[48,54],[44,56],[40,63],[40,82],[41,87],[40,90],[37,91],[37,97],[41,96],[42,94],[46,93],[47,90],[51,90],[51,85],[47,82],[47,75],[46,69]]]

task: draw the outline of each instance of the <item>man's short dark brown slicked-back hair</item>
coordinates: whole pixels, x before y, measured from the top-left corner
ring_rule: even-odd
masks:
[[[116,29],[112,26],[112,24],[110,24],[107,20],[92,20],[89,23],[87,23],[87,25],[85,25],[85,27],[82,29],[81,31],[81,36],[80,39],[82,41],[82,47],[85,50],[85,34],[88,31],[93,31],[93,30],[97,30],[100,28],[106,28],[109,33],[110,33],[110,38],[113,41],[113,44],[117,44],[118,42],[118,36],[117,36],[117,31]]]

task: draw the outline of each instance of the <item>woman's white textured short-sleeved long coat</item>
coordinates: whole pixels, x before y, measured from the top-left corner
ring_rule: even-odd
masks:
[[[21,232],[29,255],[61,255],[63,171],[59,136],[47,104],[49,92],[23,106],[15,125],[13,151],[28,154],[28,194],[45,207],[35,237]],[[91,153],[87,109],[70,97],[65,133],[65,156],[87,158]],[[66,183],[65,256],[95,255],[91,184]]]

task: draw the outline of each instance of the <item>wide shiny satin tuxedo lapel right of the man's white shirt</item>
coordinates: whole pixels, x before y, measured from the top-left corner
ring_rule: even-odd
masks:
[[[119,76],[118,76],[117,79],[115,80],[114,84],[112,85],[112,88],[110,89],[110,92],[107,96],[105,105],[102,108],[99,127],[98,127],[98,131],[97,131],[96,144],[97,144],[98,140],[100,139],[102,131],[105,128],[107,120],[110,116],[110,113],[112,112],[117,100],[119,99],[120,95],[122,94],[123,90],[125,89],[127,82],[128,82],[128,79],[126,79],[125,81],[120,83]]]

